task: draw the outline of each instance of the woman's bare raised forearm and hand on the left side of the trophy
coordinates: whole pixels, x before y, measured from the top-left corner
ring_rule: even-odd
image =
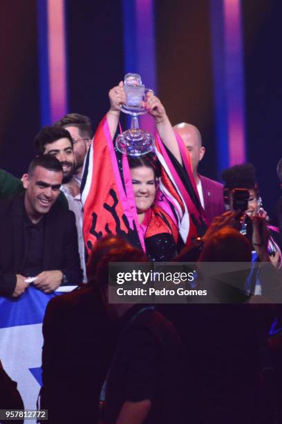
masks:
[[[116,87],[113,87],[109,91],[109,99],[111,107],[109,112],[106,114],[106,120],[108,121],[111,137],[115,136],[115,132],[118,128],[118,121],[120,118],[120,109],[125,103],[124,83],[122,81]]]

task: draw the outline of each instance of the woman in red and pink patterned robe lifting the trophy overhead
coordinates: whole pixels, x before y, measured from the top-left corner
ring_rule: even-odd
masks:
[[[140,82],[130,86],[131,98],[122,81],[109,91],[111,107],[97,129],[84,170],[84,240],[90,251],[102,236],[118,234],[142,248],[150,260],[168,261],[179,247],[203,235],[205,219],[189,154],[160,100],[152,91],[144,95]],[[136,86],[143,91],[139,100]],[[115,149],[121,110],[133,111],[126,112],[133,119]],[[156,122],[155,152],[149,152],[153,136],[138,127],[136,116],[144,112]]]

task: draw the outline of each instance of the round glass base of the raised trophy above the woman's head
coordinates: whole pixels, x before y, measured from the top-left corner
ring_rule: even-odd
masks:
[[[126,153],[131,156],[140,156],[153,150],[155,139],[149,132],[143,130],[132,129],[122,132],[117,137],[115,147],[121,153]]]

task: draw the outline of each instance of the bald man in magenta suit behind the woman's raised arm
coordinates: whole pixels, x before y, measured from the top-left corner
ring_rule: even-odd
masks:
[[[198,128],[191,124],[179,123],[174,125],[173,129],[180,135],[190,154],[200,202],[205,209],[207,223],[210,224],[215,216],[222,215],[225,212],[223,184],[198,174],[198,164],[205,154]]]

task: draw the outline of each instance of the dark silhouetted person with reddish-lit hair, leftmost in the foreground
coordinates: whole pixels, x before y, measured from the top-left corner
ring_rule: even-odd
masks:
[[[43,324],[41,409],[50,423],[97,423],[99,395],[115,346],[115,322],[108,315],[95,277],[99,260],[129,245],[107,236],[88,260],[88,284],[52,299]]]

